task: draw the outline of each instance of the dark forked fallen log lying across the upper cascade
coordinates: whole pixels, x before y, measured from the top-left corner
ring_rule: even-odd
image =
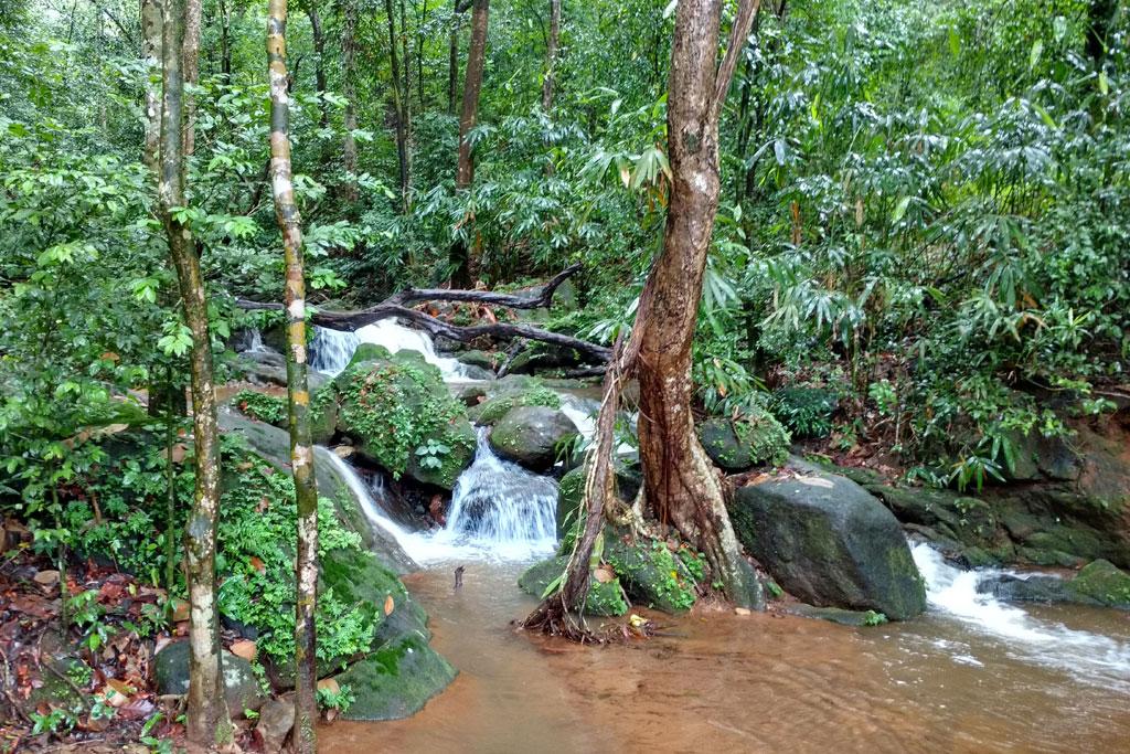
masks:
[[[377,320],[390,317],[405,320],[417,328],[428,332],[433,338],[443,336],[460,343],[470,343],[483,336],[493,338],[523,338],[525,340],[537,340],[548,343],[564,348],[573,348],[584,355],[589,361],[597,364],[606,364],[611,357],[611,349],[600,344],[582,340],[560,332],[542,330],[530,324],[513,322],[492,322],[485,324],[471,324],[460,327],[432,317],[416,309],[410,309],[407,304],[424,303],[427,301],[458,301],[464,303],[490,304],[495,306],[508,306],[510,309],[541,309],[549,306],[554,293],[568,277],[580,271],[580,265],[573,265],[541,286],[524,293],[498,293],[494,291],[463,291],[446,288],[408,288],[393,294],[375,306],[357,311],[333,311],[319,310],[311,314],[311,321],[319,327],[331,330],[356,330],[372,324]],[[258,302],[246,298],[236,298],[236,304],[245,310],[259,311],[281,311],[282,304],[277,302]]]

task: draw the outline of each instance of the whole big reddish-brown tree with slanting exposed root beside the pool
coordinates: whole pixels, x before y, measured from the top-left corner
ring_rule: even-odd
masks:
[[[631,376],[640,382],[640,460],[646,508],[706,555],[727,598],[745,607],[764,605],[760,584],[730,523],[722,479],[698,442],[690,410],[692,341],[718,214],[719,115],[759,3],[741,0],[719,64],[723,5],[722,0],[678,3],[667,97],[672,180],[663,248],[644,284],[631,339],[615,349],[606,375],[582,505],[585,529],[562,588],[527,618],[528,627],[585,634],[575,616],[583,609],[593,546],[614,494],[611,430],[618,392]]]

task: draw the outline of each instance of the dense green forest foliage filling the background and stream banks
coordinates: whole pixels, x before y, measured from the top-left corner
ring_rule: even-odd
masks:
[[[968,494],[1024,479],[1025,437],[1072,437],[1076,419],[1114,411],[1128,382],[1125,3],[763,5],[721,114],[722,190],[693,352],[702,442],[731,471],[781,465],[803,443],[824,457],[881,457],[902,482]],[[676,181],[676,6],[566,0],[547,60],[558,44],[553,3],[496,1],[467,185],[457,165],[468,8],[292,8],[289,138],[308,302],[359,310],[447,285],[466,271],[463,249],[483,289],[581,271],[575,306],[440,312],[457,326],[536,321],[606,346],[631,331]],[[736,7],[724,3],[723,32]],[[234,336],[279,321],[241,300],[281,301],[284,257],[266,3],[202,0],[202,17],[188,196],[171,211],[200,257],[223,384],[247,371]],[[174,598],[186,596],[175,563],[194,479],[189,293],[168,263],[146,150],[146,94],[162,90],[162,70],[144,43],[136,2],[0,6],[0,519],[27,525],[29,549],[51,558],[64,590],[68,563],[87,558],[163,589],[149,624],[114,616],[113,631],[129,621],[138,634],[169,627]],[[480,369],[513,365],[507,343],[476,348],[490,350]],[[398,479],[450,491],[475,452],[468,415],[489,425],[515,406],[562,407],[537,387],[468,410],[434,367],[380,356],[379,369],[362,362],[313,393],[314,439],[347,427],[358,454]],[[229,402],[287,425],[282,398],[242,390]],[[259,651],[280,664],[295,649],[294,485],[231,442],[223,460],[221,614],[254,626]],[[580,495],[583,477],[570,491]],[[360,557],[358,535],[322,494],[322,552]],[[650,603],[689,607],[705,561],[672,546],[607,551],[623,593],[634,570],[658,570]],[[380,578],[390,595],[402,590]],[[624,613],[611,583],[594,587],[601,612]],[[87,591],[62,599],[60,618],[96,650],[108,634]],[[323,591],[318,659],[376,650],[388,614]],[[336,709],[351,699],[348,688],[321,697]]]

